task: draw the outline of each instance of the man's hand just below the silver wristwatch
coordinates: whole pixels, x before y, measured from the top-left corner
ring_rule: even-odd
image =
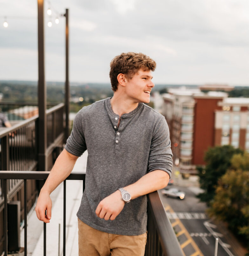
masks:
[[[105,220],[114,220],[124,208],[124,201],[121,200],[120,191],[112,193],[110,196],[104,198],[97,206],[96,215]]]

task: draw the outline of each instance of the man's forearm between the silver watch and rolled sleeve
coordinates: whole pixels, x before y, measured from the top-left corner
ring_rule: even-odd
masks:
[[[124,189],[131,194],[131,199],[135,199],[164,188],[168,184],[169,179],[170,176],[167,172],[155,170],[145,174],[137,182],[124,187]]]

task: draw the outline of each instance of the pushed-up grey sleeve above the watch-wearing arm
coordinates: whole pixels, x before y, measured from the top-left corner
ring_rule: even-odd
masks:
[[[151,140],[150,155],[148,161],[148,172],[162,170],[172,174],[172,151],[169,127],[164,117],[156,125]]]

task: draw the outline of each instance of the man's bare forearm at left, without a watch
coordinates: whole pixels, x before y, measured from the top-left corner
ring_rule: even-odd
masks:
[[[60,153],[41,191],[53,192],[57,186],[71,173],[78,157],[73,156],[65,149]]]

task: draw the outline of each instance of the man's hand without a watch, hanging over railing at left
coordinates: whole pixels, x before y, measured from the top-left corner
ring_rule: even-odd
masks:
[[[50,199],[48,192],[43,192],[41,190],[40,195],[36,204],[36,215],[39,220],[49,223],[51,219],[51,209],[52,209],[52,200]],[[47,210],[47,215],[45,211]]]

